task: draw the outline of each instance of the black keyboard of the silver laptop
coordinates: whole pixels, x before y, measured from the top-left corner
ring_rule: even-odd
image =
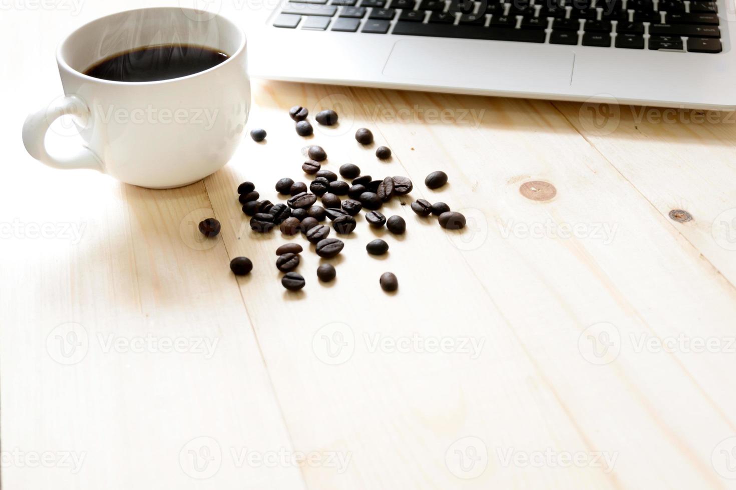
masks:
[[[720,53],[714,1],[291,0],[283,29]]]

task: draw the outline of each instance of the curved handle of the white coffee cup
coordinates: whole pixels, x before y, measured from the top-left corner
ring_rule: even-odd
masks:
[[[68,155],[52,155],[46,149],[49,126],[63,115],[84,117],[91,115],[89,107],[77,96],[63,96],[52,107],[44,107],[26,118],[23,124],[23,144],[28,153],[49,167],[61,169],[89,168],[102,172],[102,161],[86,146]]]

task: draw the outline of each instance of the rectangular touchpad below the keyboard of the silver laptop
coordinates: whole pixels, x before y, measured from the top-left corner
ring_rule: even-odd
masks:
[[[383,74],[419,85],[429,82],[482,90],[569,87],[573,51],[553,51],[544,45],[542,54],[535,52],[536,47],[436,37],[402,39],[394,43]]]

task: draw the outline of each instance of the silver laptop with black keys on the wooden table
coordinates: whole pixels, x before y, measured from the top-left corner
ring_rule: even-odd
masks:
[[[734,0],[282,0],[253,76],[729,110]]]

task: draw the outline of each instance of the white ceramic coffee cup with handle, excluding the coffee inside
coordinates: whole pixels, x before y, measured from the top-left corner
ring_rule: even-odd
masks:
[[[83,72],[146,46],[188,44],[229,58],[206,71],[160,82],[110,82]],[[26,119],[23,141],[50,167],[91,168],[142,187],[180,187],[222,168],[243,138],[250,110],[244,32],[221,15],[163,7],[99,18],[61,43],[65,96]],[[49,126],[74,116],[83,145],[51,151]]]

